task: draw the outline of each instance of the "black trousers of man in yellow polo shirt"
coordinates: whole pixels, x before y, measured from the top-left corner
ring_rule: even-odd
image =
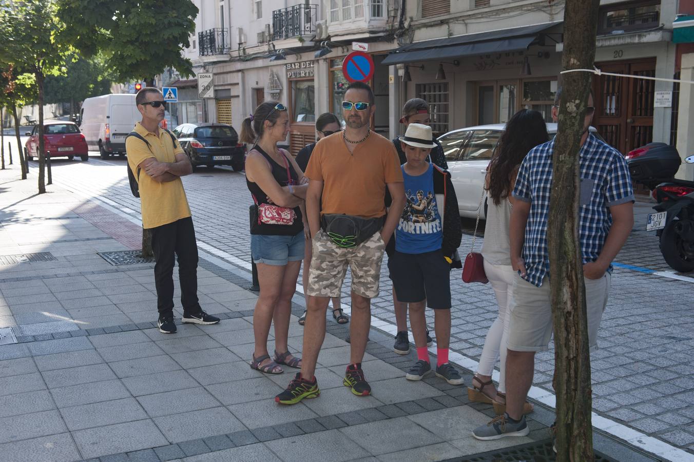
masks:
[[[198,314],[198,245],[193,219],[187,217],[151,228],[154,282],[157,288],[157,309],[160,317],[174,313],[174,259],[178,256],[180,303],[184,314]]]

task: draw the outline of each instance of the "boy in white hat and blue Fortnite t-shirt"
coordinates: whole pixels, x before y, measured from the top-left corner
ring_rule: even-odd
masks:
[[[409,322],[417,349],[418,361],[405,378],[421,380],[432,372],[426,339],[426,303],[434,309],[436,375],[449,384],[460,385],[460,373],[448,363],[450,264],[462,238],[458,201],[448,172],[426,161],[436,146],[431,127],[410,123],[400,142],[407,157],[401,167],[408,191],[407,205],[396,227],[395,252],[388,267],[398,300],[409,303]]]

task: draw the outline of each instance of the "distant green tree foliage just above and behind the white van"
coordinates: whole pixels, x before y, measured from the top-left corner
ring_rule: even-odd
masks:
[[[70,113],[74,114],[81,101],[110,93],[111,83],[112,78],[103,62],[71,55],[60,75],[46,76],[45,102],[70,103]]]

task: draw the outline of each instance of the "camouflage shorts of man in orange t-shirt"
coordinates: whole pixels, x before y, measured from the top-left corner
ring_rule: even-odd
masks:
[[[376,232],[355,248],[341,248],[320,230],[313,237],[313,257],[307,295],[339,297],[349,265],[352,269],[352,291],[366,298],[378,296],[378,281],[385,248],[380,232]]]

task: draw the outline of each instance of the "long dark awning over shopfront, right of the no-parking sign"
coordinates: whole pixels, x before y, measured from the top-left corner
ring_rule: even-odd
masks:
[[[382,64],[408,64],[410,62],[525,50],[537,39],[540,33],[557,26],[557,24],[561,24],[561,21],[414,42],[392,51],[386,56]]]

